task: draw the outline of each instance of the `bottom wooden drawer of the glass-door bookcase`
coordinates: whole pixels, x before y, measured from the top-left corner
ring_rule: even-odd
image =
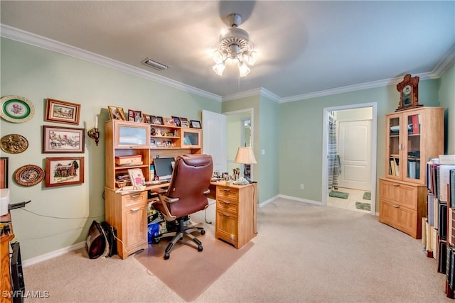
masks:
[[[417,211],[380,200],[379,221],[403,231],[413,238],[420,238],[421,224],[417,220]]]

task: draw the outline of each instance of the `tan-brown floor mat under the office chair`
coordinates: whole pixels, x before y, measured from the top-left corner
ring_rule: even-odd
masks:
[[[205,235],[198,236],[203,243],[203,251],[198,252],[196,244],[191,247],[184,243],[176,243],[171,250],[171,257],[164,260],[164,250],[171,238],[164,238],[158,244],[149,246],[134,258],[144,265],[149,272],[159,277],[168,287],[187,302],[196,299],[204,290],[212,285],[239,258],[242,258],[253,242],[237,249],[228,243],[215,239],[215,228],[204,224]],[[195,246],[193,246],[195,245]],[[196,247],[196,248],[194,248]]]

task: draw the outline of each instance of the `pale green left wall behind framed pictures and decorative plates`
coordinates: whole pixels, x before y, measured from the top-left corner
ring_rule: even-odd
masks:
[[[104,121],[109,119],[108,105],[123,107],[125,111],[136,109],[145,114],[196,120],[201,119],[203,109],[221,112],[220,101],[2,38],[1,96],[6,95],[26,97],[36,109],[33,119],[25,123],[0,121],[1,136],[17,133],[28,140],[25,152],[0,154],[9,158],[11,203],[31,200],[25,209],[11,211],[23,260],[85,241],[92,221],[104,219]],[[46,98],[81,104],[79,125],[45,122]],[[99,146],[86,136],[84,154],[41,153],[43,125],[90,129],[95,125],[95,114],[99,115]],[[65,156],[85,158],[84,184],[46,188],[41,182],[33,187],[21,187],[11,178],[23,165],[38,165],[44,169],[45,158]]]

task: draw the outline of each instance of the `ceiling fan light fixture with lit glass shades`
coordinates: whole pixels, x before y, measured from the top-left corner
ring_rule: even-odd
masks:
[[[229,61],[232,62],[237,61],[240,77],[245,77],[250,73],[248,65],[255,64],[257,53],[247,31],[238,28],[242,23],[242,16],[238,13],[231,13],[228,21],[231,28],[222,31],[219,44],[213,52],[213,61],[216,63],[213,71],[221,76],[226,67],[225,62],[230,59]]]

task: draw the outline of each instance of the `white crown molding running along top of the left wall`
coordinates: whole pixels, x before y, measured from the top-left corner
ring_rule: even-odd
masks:
[[[91,53],[87,50],[82,50],[81,48],[75,48],[72,45],[58,42],[49,38],[45,38],[41,35],[35,35],[26,31],[19,30],[18,28],[13,28],[11,26],[6,26],[0,24],[0,35],[1,37],[15,40],[21,43],[26,43],[29,45],[36,46],[38,48],[44,48],[46,50],[52,50],[55,53],[60,53],[63,55],[69,55],[71,57],[76,57],[88,62],[95,63],[97,65],[102,65],[105,67],[111,67],[114,70],[119,70],[121,72],[126,72],[130,75],[135,75],[144,79],[149,79],[160,84],[167,85],[169,87],[174,87],[180,89],[184,92],[189,92],[191,94],[197,94],[198,96],[212,99],[215,101],[221,101],[221,97],[217,94],[212,94],[210,92],[205,92],[202,89],[196,87],[191,87],[190,85],[177,82],[166,77],[156,75],[152,72],[147,72],[146,70],[141,70],[138,67],[132,65],[127,65],[123,62],[104,57],[102,55],[97,55]]]

